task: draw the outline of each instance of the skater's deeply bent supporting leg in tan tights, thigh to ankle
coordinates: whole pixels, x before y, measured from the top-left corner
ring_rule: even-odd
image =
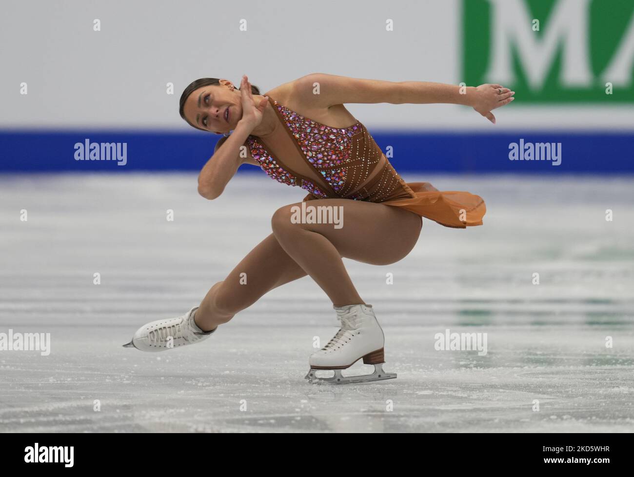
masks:
[[[306,207],[340,207],[342,227],[292,223],[293,207],[273,214],[273,233],[284,251],[326,292],[333,305],[364,303],[342,257],[389,265],[406,256],[420,235],[422,219],[399,207],[347,199],[310,200]],[[319,209],[316,209],[319,210]]]

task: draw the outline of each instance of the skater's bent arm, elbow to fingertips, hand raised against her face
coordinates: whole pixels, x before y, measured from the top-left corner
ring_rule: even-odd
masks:
[[[207,161],[198,175],[198,193],[205,199],[216,199],[223,193],[224,187],[235,175],[240,164],[246,158],[240,157],[242,147],[255,127],[262,122],[264,108],[268,103],[266,96],[256,102],[251,93],[251,84],[247,75],[242,76],[240,82],[242,99],[242,119],[236,124],[233,133],[216,144],[214,155]]]

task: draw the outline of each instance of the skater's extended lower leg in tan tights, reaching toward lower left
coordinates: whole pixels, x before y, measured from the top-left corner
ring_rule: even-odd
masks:
[[[242,277],[245,278],[241,280]],[[267,292],[297,278],[306,277],[271,233],[264,238],[222,281],[217,282],[200,303],[194,320],[204,331],[226,323]]]

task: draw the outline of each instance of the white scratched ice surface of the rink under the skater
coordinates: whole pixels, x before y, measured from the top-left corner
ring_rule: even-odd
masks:
[[[121,347],[199,303],[303,190],[247,174],[207,201],[195,174],[0,176],[0,332],[51,333],[49,356],[0,351],[0,431],[634,431],[634,179],[402,175],[488,212],[425,221],[394,265],[346,260],[398,373],[351,386],[303,379],[313,336],[337,329],[309,277],[200,345]],[[434,350],[445,329],[486,332],[488,354]]]

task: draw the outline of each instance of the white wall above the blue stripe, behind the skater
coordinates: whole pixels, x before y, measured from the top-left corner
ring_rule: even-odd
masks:
[[[460,1],[20,1],[0,17],[0,127],[182,128],[198,77],[268,91],[311,72],[458,83]],[[101,31],[93,31],[93,20]],[[248,30],[238,30],[245,18]],[[385,20],[394,20],[393,32]],[[165,94],[174,82],[175,94]],[[21,82],[29,94],[20,95]],[[349,105],[368,127],[493,126],[453,105]],[[521,107],[505,127],[633,127],[631,107]]]

